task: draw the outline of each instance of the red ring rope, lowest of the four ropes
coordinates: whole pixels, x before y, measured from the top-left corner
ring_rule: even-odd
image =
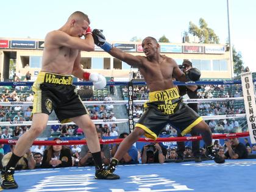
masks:
[[[213,139],[225,139],[225,138],[238,138],[238,137],[247,137],[249,132],[243,133],[226,133],[226,134],[215,134]],[[121,143],[123,138],[100,140],[101,144],[112,144],[112,143]],[[202,140],[201,136],[195,137],[165,137],[157,138],[157,140],[152,140],[151,138],[140,138],[139,142],[171,142],[171,141],[199,141]],[[0,139],[0,144],[16,144],[17,140],[4,140]],[[87,144],[86,140],[55,140],[55,141],[34,141],[32,145],[71,145],[71,144]]]

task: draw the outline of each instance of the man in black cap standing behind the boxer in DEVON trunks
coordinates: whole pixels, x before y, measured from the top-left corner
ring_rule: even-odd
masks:
[[[181,69],[183,72],[187,71],[188,69],[193,68],[192,63],[190,60],[183,60]],[[201,89],[199,85],[179,85],[178,86],[180,95],[188,94],[190,99],[197,99],[197,90]],[[197,110],[197,104],[188,104],[188,107],[192,108],[196,113],[198,113]],[[191,131],[192,136],[198,136],[199,134],[196,132]],[[177,137],[182,137],[180,133],[177,133]],[[177,141],[177,159],[176,163],[183,162],[183,154],[185,151],[185,142],[184,141]],[[200,141],[192,141],[192,152],[194,155],[194,161],[196,163],[202,162],[201,160],[201,153],[200,153]]]

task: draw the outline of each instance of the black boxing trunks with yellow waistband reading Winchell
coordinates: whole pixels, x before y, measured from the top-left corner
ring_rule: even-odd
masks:
[[[72,76],[40,72],[32,87],[35,93],[32,113],[50,115],[54,110],[61,123],[88,114],[72,84]]]

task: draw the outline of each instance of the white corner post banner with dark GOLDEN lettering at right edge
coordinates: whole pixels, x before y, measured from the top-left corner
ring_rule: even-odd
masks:
[[[242,73],[241,82],[244,93],[244,107],[246,110],[246,119],[251,143],[256,143],[256,104],[254,96],[254,84],[252,82],[252,72]]]

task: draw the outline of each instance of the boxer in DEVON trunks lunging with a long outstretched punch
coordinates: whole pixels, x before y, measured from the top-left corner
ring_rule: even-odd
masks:
[[[142,41],[141,45],[146,56],[128,54],[112,47],[97,29],[93,30],[93,38],[94,43],[104,51],[138,68],[150,90],[148,107],[135,125],[133,132],[119,145],[108,168],[110,171],[115,171],[118,160],[142,135],[155,140],[167,123],[176,128],[181,135],[191,130],[200,133],[207,146],[207,156],[216,163],[224,163],[224,158],[213,149],[210,127],[196,112],[181,101],[179,91],[172,82],[172,74],[180,82],[199,80],[201,73],[198,69],[191,68],[183,73],[175,60],[160,54],[160,45],[153,37],[146,37]]]

